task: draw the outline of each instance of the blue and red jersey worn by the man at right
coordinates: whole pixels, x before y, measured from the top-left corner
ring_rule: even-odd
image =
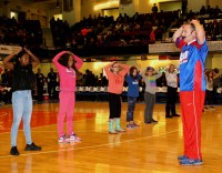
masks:
[[[196,40],[190,43],[178,38],[175,45],[180,54],[180,91],[205,91],[204,65],[208,57],[208,44],[199,44]]]

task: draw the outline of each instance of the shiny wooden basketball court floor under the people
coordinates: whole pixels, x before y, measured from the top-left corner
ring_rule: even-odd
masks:
[[[180,105],[176,106],[180,113]],[[222,106],[202,116],[201,166],[180,166],[183,153],[181,118],[165,119],[164,104],[157,104],[158,124],[143,124],[142,103],[137,104],[137,130],[108,134],[107,102],[77,102],[74,131],[82,142],[59,144],[57,135],[58,103],[34,104],[32,140],[40,152],[26,152],[23,131],[19,131],[20,156],[11,156],[11,105],[0,108],[0,173],[221,173],[222,172]],[[127,103],[122,105],[125,126]]]

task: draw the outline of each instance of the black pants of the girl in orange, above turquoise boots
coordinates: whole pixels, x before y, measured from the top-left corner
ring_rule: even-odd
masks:
[[[120,118],[121,115],[121,95],[109,93],[110,118]]]

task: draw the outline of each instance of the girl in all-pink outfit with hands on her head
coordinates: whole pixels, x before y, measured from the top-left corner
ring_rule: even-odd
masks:
[[[75,103],[74,91],[77,72],[82,67],[83,61],[70,51],[62,51],[53,58],[52,62],[60,77],[60,108],[58,116],[59,142],[80,141],[81,139],[73,133],[72,119]],[[65,114],[68,138],[63,131]]]

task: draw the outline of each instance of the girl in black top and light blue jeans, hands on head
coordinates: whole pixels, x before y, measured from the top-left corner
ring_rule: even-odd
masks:
[[[16,64],[10,62],[17,57]],[[31,61],[30,61],[31,58]],[[12,109],[13,123],[11,126],[11,155],[19,155],[17,149],[18,130],[23,120],[23,131],[27,140],[26,151],[40,151],[41,146],[37,146],[31,139],[31,114],[32,114],[32,90],[36,86],[36,77],[32,68],[39,64],[39,59],[27,48],[9,54],[3,63],[13,71],[12,78]]]

